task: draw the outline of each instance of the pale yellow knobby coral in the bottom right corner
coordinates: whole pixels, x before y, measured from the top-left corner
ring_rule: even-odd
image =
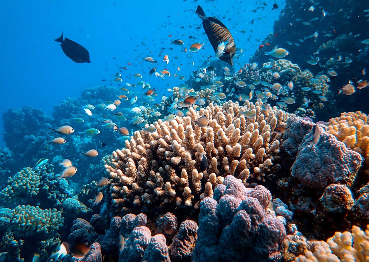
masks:
[[[335,232],[334,236],[325,241],[312,241],[313,250],[299,255],[294,261],[368,261],[369,260],[369,229],[365,231],[353,226],[351,232]]]

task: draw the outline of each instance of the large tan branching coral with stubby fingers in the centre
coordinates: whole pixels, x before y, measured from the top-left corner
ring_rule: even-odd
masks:
[[[245,118],[242,111],[255,116]],[[194,122],[208,118],[206,127]],[[170,122],[155,122],[156,132],[136,131],[126,148],[104,158],[110,177],[113,215],[142,210],[147,204],[174,204],[199,208],[216,185],[227,175],[246,180],[265,180],[273,162],[278,161],[281,134],[273,132],[290,115],[276,107],[246,101],[244,106],[209,104]],[[202,154],[209,166],[201,172]]]

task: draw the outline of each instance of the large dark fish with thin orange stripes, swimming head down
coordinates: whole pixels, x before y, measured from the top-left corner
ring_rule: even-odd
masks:
[[[218,19],[207,17],[201,6],[197,6],[195,13],[203,20],[204,30],[215,53],[217,52],[218,45],[220,43],[227,42],[224,54],[221,55],[219,59],[233,65],[233,56],[236,52],[236,45],[228,28]]]

